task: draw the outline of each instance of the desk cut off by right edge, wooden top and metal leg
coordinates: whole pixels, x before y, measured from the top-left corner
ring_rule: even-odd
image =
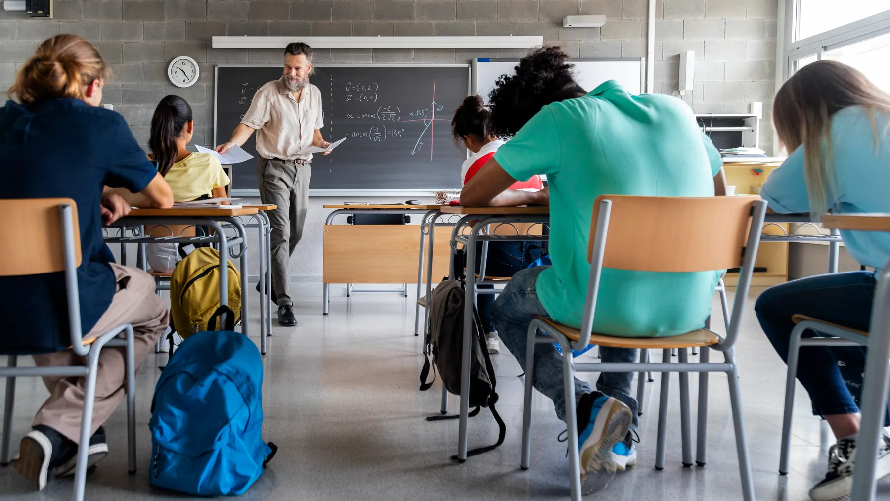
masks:
[[[890,214],[828,214],[822,226],[831,230],[890,232]],[[878,438],[884,425],[887,398],[887,358],[890,357],[890,261],[880,271],[871,309],[869,350],[862,380],[862,424],[856,452],[856,474],[853,477],[853,496],[857,501],[874,501],[875,468],[878,457]]]

